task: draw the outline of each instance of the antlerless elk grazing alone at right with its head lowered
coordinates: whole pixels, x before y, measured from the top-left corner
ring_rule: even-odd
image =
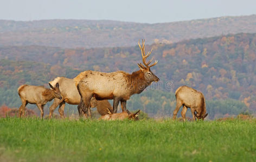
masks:
[[[176,96],[176,109],[174,110],[173,119],[175,120],[178,110],[183,105],[181,116],[185,121],[185,113],[188,107],[190,107],[191,113],[193,115],[193,120],[204,119],[208,113],[206,113],[206,101],[204,99],[203,93],[188,87],[180,86],[175,92]],[[196,117],[196,118],[195,118]]]

